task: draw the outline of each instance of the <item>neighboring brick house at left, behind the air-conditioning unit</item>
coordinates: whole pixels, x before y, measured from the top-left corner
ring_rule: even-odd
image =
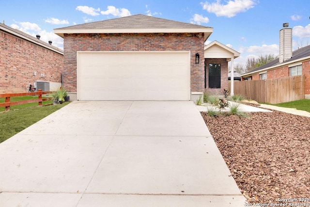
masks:
[[[0,93],[26,92],[39,82],[61,86],[63,51],[38,38],[0,23]]]

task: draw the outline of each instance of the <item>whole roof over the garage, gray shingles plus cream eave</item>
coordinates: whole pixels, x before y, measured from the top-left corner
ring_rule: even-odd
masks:
[[[213,32],[213,28],[154,16],[133,15],[58,28],[54,29],[54,32],[61,37],[64,33],[203,32],[206,40]]]

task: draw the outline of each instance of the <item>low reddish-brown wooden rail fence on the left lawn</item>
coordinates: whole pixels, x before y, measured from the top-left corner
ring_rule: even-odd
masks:
[[[51,100],[51,98],[42,98],[42,95],[43,94],[50,94],[50,93],[52,93],[52,92],[42,91],[41,89],[39,89],[38,92],[0,94],[0,98],[4,97],[4,100],[5,100],[4,103],[0,103],[0,107],[5,107],[5,111],[9,111],[10,106],[26,104],[26,103],[38,102],[38,105],[42,106],[42,101]],[[10,101],[11,97],[14,97],[14,96],[33,96],[33,95],[38,95],[38,98],[37,99],[30,99],[30,100],[14,101],[14,102]]]

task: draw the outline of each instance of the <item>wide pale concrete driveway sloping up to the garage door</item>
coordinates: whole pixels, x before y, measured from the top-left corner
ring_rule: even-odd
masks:
[[[0,206],[244,206],[191,101],[75,101],[0,144]]]

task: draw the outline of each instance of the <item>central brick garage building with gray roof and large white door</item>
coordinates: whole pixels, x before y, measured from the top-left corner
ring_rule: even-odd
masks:
[[[73,100],[196,100],[212,32],[145,15],[54,30],[64,39],[63,84]]]

